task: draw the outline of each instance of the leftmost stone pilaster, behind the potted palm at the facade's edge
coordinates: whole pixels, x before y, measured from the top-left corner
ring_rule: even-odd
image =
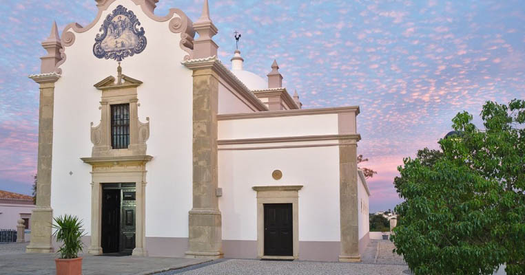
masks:
[[[51,245],[51,164],[53,148],[54,83],[59,75],[30,76],[40,84],[39,153],[37,165],[37,207],[31,215],[31,241],[25,252],[53,252]]]

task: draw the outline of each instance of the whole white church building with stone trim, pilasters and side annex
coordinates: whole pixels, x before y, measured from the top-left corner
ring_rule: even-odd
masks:
[[[275,61],[267,80],[219,61],[207,0],[196,21],[157,2],[96,0],[42,43],[27,252],[74,214],[89,254],[360,261],[359,107],[302,109]]]

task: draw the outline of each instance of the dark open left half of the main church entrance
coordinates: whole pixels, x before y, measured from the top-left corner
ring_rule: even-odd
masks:
[[[102,190],[102,239],[103,253],[119,252],[121,219],[121,190]]]

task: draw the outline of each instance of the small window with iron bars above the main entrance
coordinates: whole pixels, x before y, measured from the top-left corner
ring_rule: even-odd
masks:
[[[111,146],[125,149],[130,144],[130,104],[111,105]]]

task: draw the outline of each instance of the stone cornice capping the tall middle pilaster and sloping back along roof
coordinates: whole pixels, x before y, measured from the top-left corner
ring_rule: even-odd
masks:
[[[268,107],[261,102],[247,87],[242,83],[225,65],[223,65],[217,56],[207,58],[190,59],[182,62],[188,69],[213,69],[220,78],[225,80],[238,93],[246,98],[248,102],[256,107],[257,111],[268,111]]]

